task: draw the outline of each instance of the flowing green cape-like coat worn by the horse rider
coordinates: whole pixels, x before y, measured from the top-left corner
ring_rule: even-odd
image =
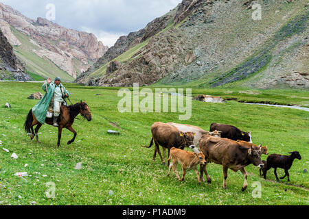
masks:
[[[55,86],[56,86],[55,81],[52,83],[47,83],[48,92],[43,96],[41,101],[39,101],[38,104],[36,104],[32,108],[32,113],[34,114],[34,116],[36,116],[36,120],[38,120],[38,123],[41,124],[45,123],[47,110],[54,96]],[[69,92],[65,90],[65,87],[62,86],[62,83],[60,83],[60,87],[63,88],[64,94],[67,94],[67,96],[69,96]],[[46,83],[43,83],[42,89],[46,92]]]

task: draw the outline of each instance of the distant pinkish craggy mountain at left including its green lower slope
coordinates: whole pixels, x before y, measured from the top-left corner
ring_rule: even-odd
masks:
[[[43,77],[60,75],[72,81],[108,49],[93,34],[67,29],[45,18],[34,21],[3,3],[0,24],[25,68]]]

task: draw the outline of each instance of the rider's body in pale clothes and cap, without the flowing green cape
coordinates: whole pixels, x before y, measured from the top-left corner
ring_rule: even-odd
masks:
[[[53,125],[54,127],[58,127],[58,116],[60,115],[60,104],[62,102],[65,102],[65,97],[69,97],[69,92],[65,90],[65,87],[62,86],[61,79],[60,77],[56,77],[54,82],[52,82],[52,79],[47,79],[47,84],[43,84],[42,88],[45,90],[45,92],[49,88],[54,88],[54,120],[53,120]],[[46,90],[47,87],[47,90]]]

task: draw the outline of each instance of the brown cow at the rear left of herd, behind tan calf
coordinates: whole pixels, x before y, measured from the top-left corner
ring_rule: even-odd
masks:
[[[179,131],[179,129],[177,129],[173,125],[169,125],[166,123],[153,123],[153,125],[151,126],[151,133],[152,139],[150,145],[144,147],[150,148],[153,142],[155,142],[155,154],[153,155],[152,159],[156,159],[156,155],[158,152],[163,165],[165,165],[165,162],[159,149],[160,145],[168,149],[168,157],[170,157],[170,149],[172,148],[172,146],[178,149],[184,149],[185,146],[188,147],[194,144],[194,132],[187,131],[184,133],[182,131]],[[170,162],[168,162],[168,165],[170,165]]]

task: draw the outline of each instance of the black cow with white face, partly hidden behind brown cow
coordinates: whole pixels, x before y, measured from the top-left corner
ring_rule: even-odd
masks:
[[[222,131],[221,138],[229,138],[231,140],[243,140],[246,142],[251,142],[251,133],[250,132],[244,132],[238,129],[237,127],[233,125],[225,125],[225,124],[218,124],[218,123],[212,123],[210,125],[210,131]]]

